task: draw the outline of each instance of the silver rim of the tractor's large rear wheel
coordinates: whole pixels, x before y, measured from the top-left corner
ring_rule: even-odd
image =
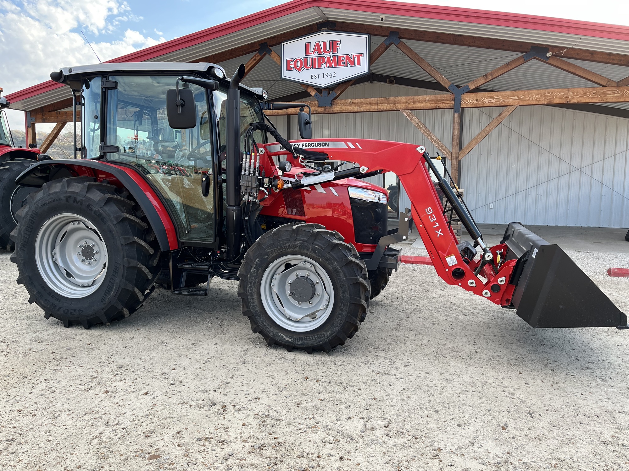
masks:
[[[66,298],[94,293],[107,273],[107,260],[100,232],[76,214],[51,217],[35,239],[35,262],[43,281]]]

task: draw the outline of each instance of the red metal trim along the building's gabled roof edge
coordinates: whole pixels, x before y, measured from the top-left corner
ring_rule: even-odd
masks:
[[[460,21],[462,23],[488,24],[492,26],[505,26],[507,28],[522,28],[526,30],[548,31],[553,33],[565,33],[577,36],[590,36],[621,41],[629,41],[629,26],[616,24],[591,23],[589,21],[577,21],[573,19],[548,18],[545,16],[532,16],[518,13],[501,13],[497,11],[476,10],[470,8],[454,8],[446,6],[423,5],[415,3],[401,3],[384,0],[294,0],[279,6],[259,11],[242,18],[237,18],[227,23],[212,26],[206,30],[182,36],[159,45],[151,46],[140,51],[118,57],[108,62],[144,62],[162,55],[181,50],[182,48],[197,45],[204,41],[213,40],[220,36],[245,30],[250,26],[272,21],[291,13],[298,13],[304,9],[335,8],[350,11],[362,11],[384,15],[410,16],[413,18],[441,19],[447,21]],[[9,101],[17,102],[43,92],[54,90],[62,85],[48,81],[28,89],[7,95]]]

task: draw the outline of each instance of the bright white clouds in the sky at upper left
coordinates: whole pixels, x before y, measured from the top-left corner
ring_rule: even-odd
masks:
[[[165,41],[128,28],[120,39],[97,41],[121,21],[136,21],[126,2],[118,0],[0,0],[0,87],[4,95],[44,82],[61,67],[97,62],[81,32],[101,60],[109,60]],[[16,119],[17,118],[17,119]],[[11,124],[23,127],[12,113]]]

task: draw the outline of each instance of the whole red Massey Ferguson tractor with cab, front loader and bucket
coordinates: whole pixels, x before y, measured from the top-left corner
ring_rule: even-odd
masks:
[[[558,246],[520,223],[488,247],[423,146],[311,139],[307,104],[264,102],[262,89],[240,84],[244,75],[241,65],[228,80],[209,63],[51,74],[80,95],[80,158],[18,176],[20,187],[41,190],[11,234],[18,283],[46,318],[108,324],[156,285],[207,296],[218,276],[240,281],[243,315],[268,345],[329,352],[353,337],[398,269],[391,244],[408,238],[412,221],[446,283],[516,309],[533,327],[626,328]],[[289,142],[264,110],[294,107],[302,139]],[[364,181],[384,171],[411,200],[394,230],[386,190]],[[472,241],[457,240],[453,220]]]

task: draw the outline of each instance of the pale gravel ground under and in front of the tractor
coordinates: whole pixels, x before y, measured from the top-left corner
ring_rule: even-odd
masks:
[[[626,254],[569,255],[629,311],[629,279],[605,274]],[[629,332],[533,330],[430,266],[313,355],[260,342],[234,282],[84,330],[15,279],[0,253],[3,468],[629,469]]]

